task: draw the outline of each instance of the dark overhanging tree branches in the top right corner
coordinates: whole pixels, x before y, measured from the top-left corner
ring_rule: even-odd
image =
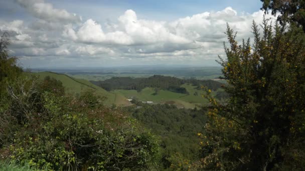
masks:
[[[291,21],[296,21],[298,24],[303,26],[305,32],[305,0],[261,0],[263,6],[261,9],[268,12],[271,9],[273,15],[279,12],[281,15],[278,16],[279,21],[289,17]]]

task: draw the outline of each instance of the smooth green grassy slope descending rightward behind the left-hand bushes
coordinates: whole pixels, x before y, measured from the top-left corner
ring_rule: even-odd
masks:
[[[60,80],[65,87],[65,91],[68,93],[81,93],[86,89],[93,89],[98,95],[105,96],[105,104],[116,104],[116,105],[129,105],[130,102],[121,94],[114,92],[108,92],[105,89],[94,85],[85,79],[76,79],[66,74],[55,73],[55,72],[25,72],[28,76],[38,76],[39,79],[44,79],[46,76],[53,77]]]

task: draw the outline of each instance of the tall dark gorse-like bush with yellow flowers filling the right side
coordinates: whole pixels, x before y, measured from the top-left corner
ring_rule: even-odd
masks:
[[[253,21],[254,44],[235,40],[220,58],[229,100],[210,100],[201,167],[209,170],[305,169],[305,33],[300,27],[266,19],[262,36]],[[253,48],[253,49],[252,49]]]

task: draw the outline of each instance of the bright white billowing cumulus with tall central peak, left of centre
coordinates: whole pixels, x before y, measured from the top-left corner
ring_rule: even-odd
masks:
[[[118,45],[192,42],[170,32],[165,26],[165,22],[137,19],[135,12],[131,9],[118,17],[118,26],[110,32],[105,33],[101,24],[93,19],[88,19],[78,30],[74,30],[72,25],[66,25],[63,35],[82,42]]]

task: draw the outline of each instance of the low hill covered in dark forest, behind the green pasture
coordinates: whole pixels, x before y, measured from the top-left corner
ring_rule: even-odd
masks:
[[[91,82],[108,91],[114,89],[136,89],[140,91],[145,87],[156,87],[180,93],[187,93],[184,87],[180,87],[184,83],[192,83],[198,87],[204,85],[213,90],[220,88],[222,84],[214,80],[180,79],[177,77],[163,75],[154,75],[145,78],[112,77],[103,81]]]

